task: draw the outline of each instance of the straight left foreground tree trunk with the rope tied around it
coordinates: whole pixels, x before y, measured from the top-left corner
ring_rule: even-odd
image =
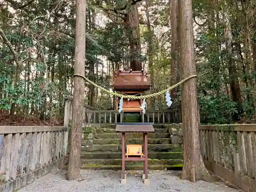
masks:
[[[84,75],[86,55],[86,0],[76,1],[76,40],[74,73]],[[75,180],[80,175],[81,135],[84,103],[84,80],[74,77],[74,94],[72,110],[72,127],[68,180]]]

